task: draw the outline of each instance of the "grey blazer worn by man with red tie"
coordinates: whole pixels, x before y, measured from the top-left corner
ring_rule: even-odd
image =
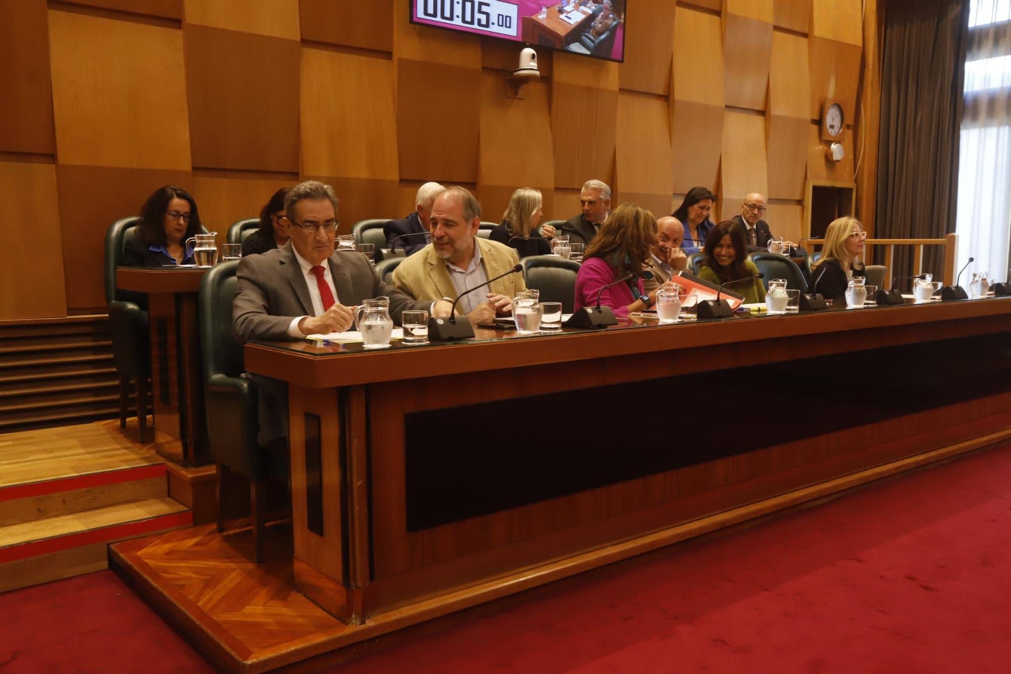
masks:
[[[328,263],[337,288],[337,301],[346,307],[385,296],[389,298],[390,316],[399,325],[400,314],[405,310],[427,311],[432,304],[415,302],[381,281],[361,253],[335,251]],[[237,277],[232,320],[236,336],[244,342],[290,340],[288,326],[292,319],[314,315],[309,288],[290,241],[283,248],[244,257],[239,263]]]

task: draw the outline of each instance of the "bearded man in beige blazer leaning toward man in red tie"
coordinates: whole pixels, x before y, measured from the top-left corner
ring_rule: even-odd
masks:
[[[513,298],[526,290],[523,274],[514,273],[490,285],[480,285],[505,273],[519,261],[517,252],[497,241],[477,236],[481,205],[463,187],[447,187],[432,204],[432,243],[406,258],[393,271],[392,282],[416,300],[452,302],[460,297],[457,314],[472,323],[490,323],[512,311]]]

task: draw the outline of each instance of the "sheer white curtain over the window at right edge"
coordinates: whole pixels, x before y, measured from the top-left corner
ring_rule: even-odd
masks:
[[[958,161],[957,268],[1008,280],[1011,268],[1011,0],[971,0]]]

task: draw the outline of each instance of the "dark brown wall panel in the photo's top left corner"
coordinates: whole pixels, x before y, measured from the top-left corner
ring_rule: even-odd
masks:
[[[44,0],[0,0],[0,152],[56,152]]]

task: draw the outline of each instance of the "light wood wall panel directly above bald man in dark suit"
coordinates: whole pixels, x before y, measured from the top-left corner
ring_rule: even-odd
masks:
[[[720,196],[733,199],[748,192],[768,194],[765,162],[765,118],[744,112],[724,114]]]

